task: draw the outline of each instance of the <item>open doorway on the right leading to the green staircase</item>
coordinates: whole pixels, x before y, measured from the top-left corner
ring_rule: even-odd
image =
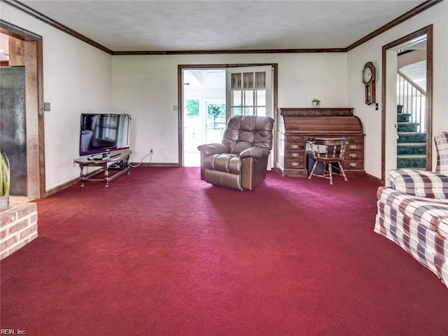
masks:
[[[382,48],[382,183],[391,169],[432,169],[432,46],[430,25]]]

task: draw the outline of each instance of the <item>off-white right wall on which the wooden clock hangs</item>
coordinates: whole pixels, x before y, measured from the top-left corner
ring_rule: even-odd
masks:
[[[433,24],[433,134],[448,130],[448,1],[442,1],[416,17],[389,29],[384,34],[348,52],[348,104],[363,122],[365,136],[365,171],[381,178],[381,50],[382,46],[402,36]],[[361,71],[373,62],[377,73],[379,110],[364,104]],[[433,147],[433,167],[436,153]]]

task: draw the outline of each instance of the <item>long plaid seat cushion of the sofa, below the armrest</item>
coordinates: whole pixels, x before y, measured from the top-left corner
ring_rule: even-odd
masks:
[[[425,228],[448,238],[448,200],[407,195],[388,187],[379,187],[377,198]]]

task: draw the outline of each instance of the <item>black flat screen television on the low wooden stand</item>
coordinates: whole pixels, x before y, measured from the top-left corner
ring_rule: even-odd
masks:
[[[82,113],[79,155],[94,155],[129,148],[129,114]]]

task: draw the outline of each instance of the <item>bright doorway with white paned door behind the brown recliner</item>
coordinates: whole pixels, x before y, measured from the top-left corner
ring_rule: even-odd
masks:
[[[214,64],[214,65],[179,65],[179,165],[183,167],[200,167],[201,144],[221,143],[225,123],[230,116],[229,76],[239,68],[244,71],[267,71],[269,68],[269,99],[267,104],[269,116],[274,118],[277,97],[277,64]],[[226,79],[227,78],[227,79]],[[241,94],[244,90],[241,90]],[[260,100],[261,102],[261,100]],[[241,102],[242,104],[242,102]],[[266,104],[266,103],[264,103]],[[245,106],[245,105],[243,105]],[[248,107],[248,111],[259,114],[262,107]],[[260,109],[260,111],[257,110]],[[275,139],[275,137],[274,137]],[[271,160],[274,160],[275,144]],[[269,166],[270,167],[270,166]]]

